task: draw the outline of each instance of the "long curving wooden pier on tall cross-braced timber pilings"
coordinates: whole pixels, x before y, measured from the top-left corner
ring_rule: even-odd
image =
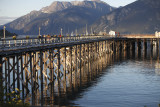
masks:
[[[159,51],[159,38],[30,38],[1,40],[0,45],[0,89],[11,93],[18,88],[23,102],[43,106],[78,92],[112,62],[111,55],[140,53],[148,46],[152,51],[155,45]]]

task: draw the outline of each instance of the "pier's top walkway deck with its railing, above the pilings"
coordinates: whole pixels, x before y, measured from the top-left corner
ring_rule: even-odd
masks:
[[[75,44],[84,44],[104,40],[126,40],[127,38],[113,38],[109,36],[74,36],[74,37],[43,37],[43,38],[19,38],[1,39],[0,55],[13,54],[22,51],[36,51],[51,47],[67,47]]]

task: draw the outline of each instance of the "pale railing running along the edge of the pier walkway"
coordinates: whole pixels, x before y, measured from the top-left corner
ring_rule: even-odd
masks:
[[[41,38],[18,38],[18,39],[1,39],[0,50],[9,50],[13,48],[27,46],[42,46],[45,44],[68,43],[84,40],[95,40],[108,38],[108,36],[70,36],[70,37],[41,37]]]

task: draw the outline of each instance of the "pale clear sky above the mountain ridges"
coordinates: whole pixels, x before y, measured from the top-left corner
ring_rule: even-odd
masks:
[[[33,10],[40,10],[54,1],[82,1],[82,0],[0,0],[1,17],[20,17]],[[102,0],[111,6],[125,6],[136,0]]]

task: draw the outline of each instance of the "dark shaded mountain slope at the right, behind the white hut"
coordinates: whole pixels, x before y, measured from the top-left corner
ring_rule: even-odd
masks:
[[[137,0],[102,16],[92,25],[97,32],[153,34],[160,31],[160,0]]]

